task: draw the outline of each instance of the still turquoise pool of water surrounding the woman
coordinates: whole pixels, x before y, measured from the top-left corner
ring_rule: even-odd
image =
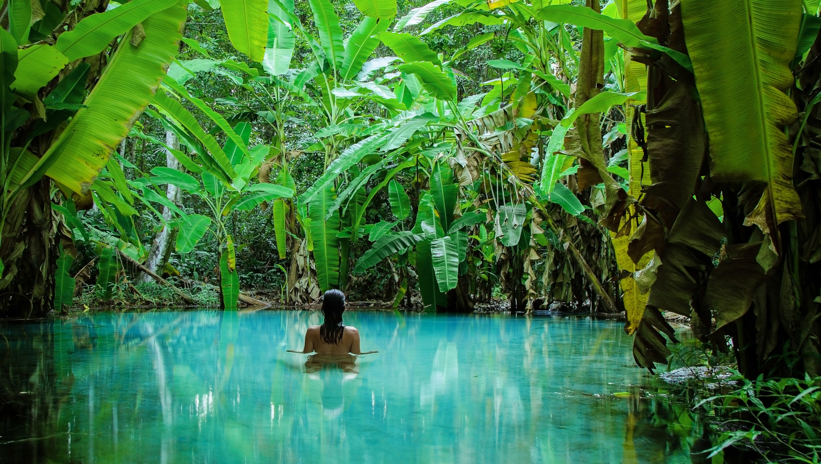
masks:
[[[702,433],[619,321],[345,320],[379,353],[286,353],[317,312],[0,323],[0,462],[689,463]]]

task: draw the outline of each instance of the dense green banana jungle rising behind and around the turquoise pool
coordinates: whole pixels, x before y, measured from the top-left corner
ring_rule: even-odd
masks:
[[[7,2],[0,311],[496,293],[815,378],[818,2],[648,3]]]

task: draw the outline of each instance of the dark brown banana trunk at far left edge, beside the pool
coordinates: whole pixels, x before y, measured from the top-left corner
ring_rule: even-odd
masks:
[[[51,179],[44,177],[16,198],[2,231],[0,316],[42,316],[53,307],[57,221]]]

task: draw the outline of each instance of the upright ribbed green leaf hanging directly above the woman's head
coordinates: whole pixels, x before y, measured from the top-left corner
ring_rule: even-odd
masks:
[[[326,185],[308,206],[310,233],[314,240],[314,262],[319,289],[323,292],[339,285],[339,212],[325,219],[333,203],[333,184]]]

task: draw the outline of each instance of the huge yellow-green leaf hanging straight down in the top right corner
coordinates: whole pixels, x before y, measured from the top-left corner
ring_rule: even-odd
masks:
[[[767,183],[747,216],[765,233],[774,232],[773,220],[803,217],[784,134],[797,117],[785,91],[793,83],[800,0],[688,0],[681,19],[709,134],[711,177]]]

